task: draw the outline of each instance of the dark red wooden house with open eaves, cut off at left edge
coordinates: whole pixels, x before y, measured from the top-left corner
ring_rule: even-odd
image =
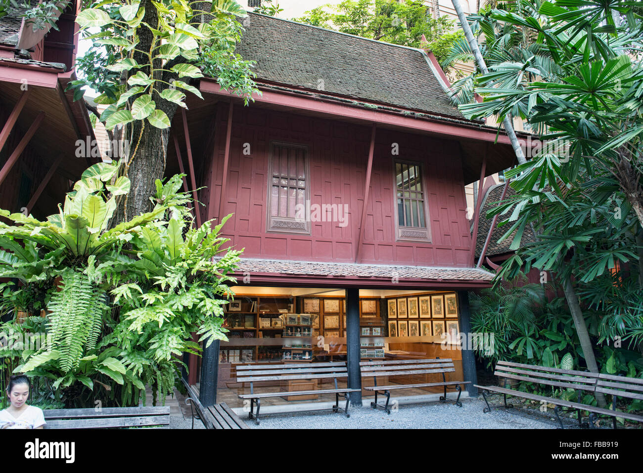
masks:
[[[59,30],[33,30],[22,6],[0,18],[0,208],[55,213],[70,181],[100,161],[84,102],[65,91],[75,79],[78,8],[72,1]]]

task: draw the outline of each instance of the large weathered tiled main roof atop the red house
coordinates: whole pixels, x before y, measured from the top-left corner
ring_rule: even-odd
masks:
[[[236,51],[257,79],[466,120],[420,49],[249,13]]]

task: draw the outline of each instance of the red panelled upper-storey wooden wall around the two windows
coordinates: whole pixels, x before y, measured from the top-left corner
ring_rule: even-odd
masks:
[[[207,196],[212,204],[210,218],[218,217],[227,116],[228,104],[219,103],[212,145],[208,145],[212,152],[203,156],[204,160],[215,158],[215,162],[203,165],[199,184],[209,188],[201,191],[200,198],[206,202]],[[311,204],[347,205],[346,226],[321,221],[311,222],[311,235],[266,232],[271,141],[308,147]],[[245,143],[251,150],[249,156],[243,154]],[[222,215],[235,215],[222,233],[231,238],[231,244],[245,247],[248,258],[354,261],[369,143],[368,127],[235,105],[222,206]],[[398,156],[392,156],[392,143],[399,145]],[[394,158],[423,165],[431,242],[395,241]],[[361,262],[465,267],[470,242],[458,143],[378,129]]]

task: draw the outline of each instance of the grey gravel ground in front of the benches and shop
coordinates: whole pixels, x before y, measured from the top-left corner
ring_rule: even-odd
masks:
[[[365,403],[366,404],[366,403]],[[547,419],[514,408],[483,413],[482,399],[463,399],[462,407],[453,402],[408,404],[387,415],[382,409],[349,407],[350,418],[331,411],[298,415],[275,414],[260,418],[260,425],[244,418],[251,429],[553,429]],[[245,416],[244,416],[245,417]]]

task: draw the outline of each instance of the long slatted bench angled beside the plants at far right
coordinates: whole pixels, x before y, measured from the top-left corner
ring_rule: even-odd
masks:
[[[498,361],[494,375],[503,378],[503,386],[479,386],[482,389],[482,397],[487,407],[484,407],[485,413],[496,407],[513,407],[507,404],[507,395],[521,397],[525,399],[554,404],[554,415],[561,429],[568,427],[593,427],[598,415],[607,415],[613,418],[613,427],[616,428],[616,418],[622,417],[629,420],[643,422],[643,416],[616,411],[616,402],[618,397],[629,397],[633,399],[643,399],[643,380],[621,376],[612,376],[590,371],[563,370],[561,368],[547,368],[545,366],[535,366],[532,364],[514,363],[510,361]],[[543,386],[549,386],[552,389],[573,389],[577,400],[559,399],[556,397],[543,396],[534,393],[525,393],[517,389],[506,388],[507,379],[518,380],[520,382],[532,382]],[[504,403],[498,406],[490,406],[487,396],[489,392],[502,394]],[[582,393],[603,393],[612,396],[613,409],[595,407],[590,404],[583,404]],[[553,393],[552,393],[553,394]],[[560,418],[559,413],[562,407],[575,409],[577,411],[577,423],[565,425]],[[591,413],[589,421],[583,422],[582,411]]]

